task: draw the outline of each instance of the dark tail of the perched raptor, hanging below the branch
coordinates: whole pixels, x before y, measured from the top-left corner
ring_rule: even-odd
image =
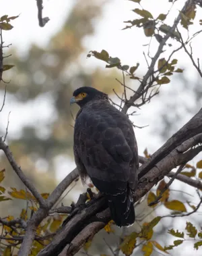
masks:
[[[119,227],[130,226],[135,222],[133,195],[128,188],[119,195],[107,195],[111,218]]]

